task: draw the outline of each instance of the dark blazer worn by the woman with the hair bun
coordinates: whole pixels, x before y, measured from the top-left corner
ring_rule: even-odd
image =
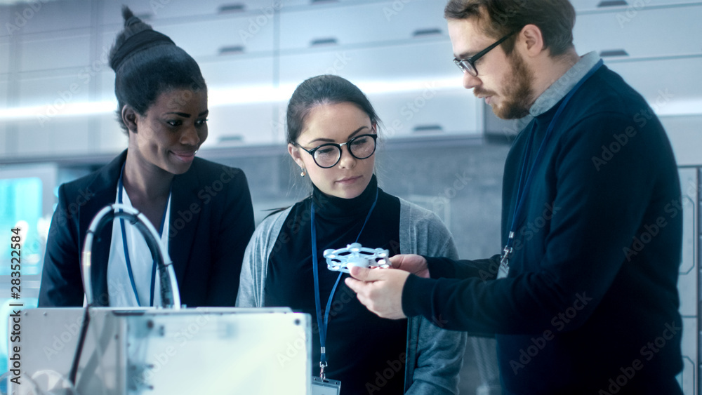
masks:
[[[125,160],[126,150],[107,166],[59,188],[46,243],[39,307],[82,306],[81,253],[86,231],[95,214],[114,203]],[[186,173],[173,178],[169,221],[168,254],[181,303],[234,306],[241,260],[254,229],[244,172],[195,158]],[[93,300],[107,306],[112,226],[105,226],[97,239],[91,260]]]

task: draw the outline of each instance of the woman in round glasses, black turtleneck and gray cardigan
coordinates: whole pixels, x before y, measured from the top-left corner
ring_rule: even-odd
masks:
[[[378,188],[378,116],[370,102],[339,76],[316,76],[293,93],[287,128],[288,152],[312,181],[312,195],[256,229],[237,306],[310,314],[317,323],[312,372],[325,366],[323,375],[341,382],[341,394],[457,393],[465,335],[439,329],[440,318],[434,325],[380,319],[340,281],[348,274],[327,269],[323,257],[351,243],[390,255],[456,256],[436,215]]]

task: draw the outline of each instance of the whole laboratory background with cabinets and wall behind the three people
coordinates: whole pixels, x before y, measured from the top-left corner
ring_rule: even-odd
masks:
[[[702,1],[571,2],[578,54],[597,51],[646,98],[673,144],[684,215],[678,380],[698,395]],[[501,250],[503,165],[524,120],[497,119],[461,86],[444,0],[1,0],[0,234],[22,229],[25,308],[37,304],[58,186],[127,145],[107,61],[123,4],[197,60],[210,110],[198,155],[244,170],[257,224],[310,193],[287,153],[285,108],[303,80],[337,74],[368,95],[382,121],[380,187],[437,213],[461,257]],[[13,302],[10,256],[0,241],[3,323]],[[2,373],[5,324],[0,338]],[[499,393],[491,344],[468,342],[461,394]]]

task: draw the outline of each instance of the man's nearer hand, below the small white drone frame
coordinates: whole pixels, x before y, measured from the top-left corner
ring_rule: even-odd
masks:
[[[404,319],[402,288],[409,272],[397,269],[367,269],[350,267],[351,276],[346,285],[371,312],[385,319]]]

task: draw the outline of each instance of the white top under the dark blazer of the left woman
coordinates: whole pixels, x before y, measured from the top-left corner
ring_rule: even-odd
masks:
[[[119,202],[119,185],[114,201]],[[126,189],[122,187],[122,204],[133,207]],[[166,220],[164,228],[161,230],[161,245],[168,250],[168,222],[171,217],[171,195],[168,195],[166,203]],[[147,307],[151,302],[151,276],[154,261],[151,257],[149,246],[144,236],[129,221],[120,221],[116,218],[112,221],[112,241],[110,243],[110,258],[107,261],[107,293],[110,295],[111,307],[138,307],[134,289],[129,281],[129,272],[124,256],[124,241],[122,239],[122,228],[120,222],[124,222],[124,231],[131,262],[134,284],[139,294],[139,302],[142,307]],[[158,227],[155,224],[154,228]],[[154,283],[154,306],[161,304],[160,281],[158,271],[155,274]]]

